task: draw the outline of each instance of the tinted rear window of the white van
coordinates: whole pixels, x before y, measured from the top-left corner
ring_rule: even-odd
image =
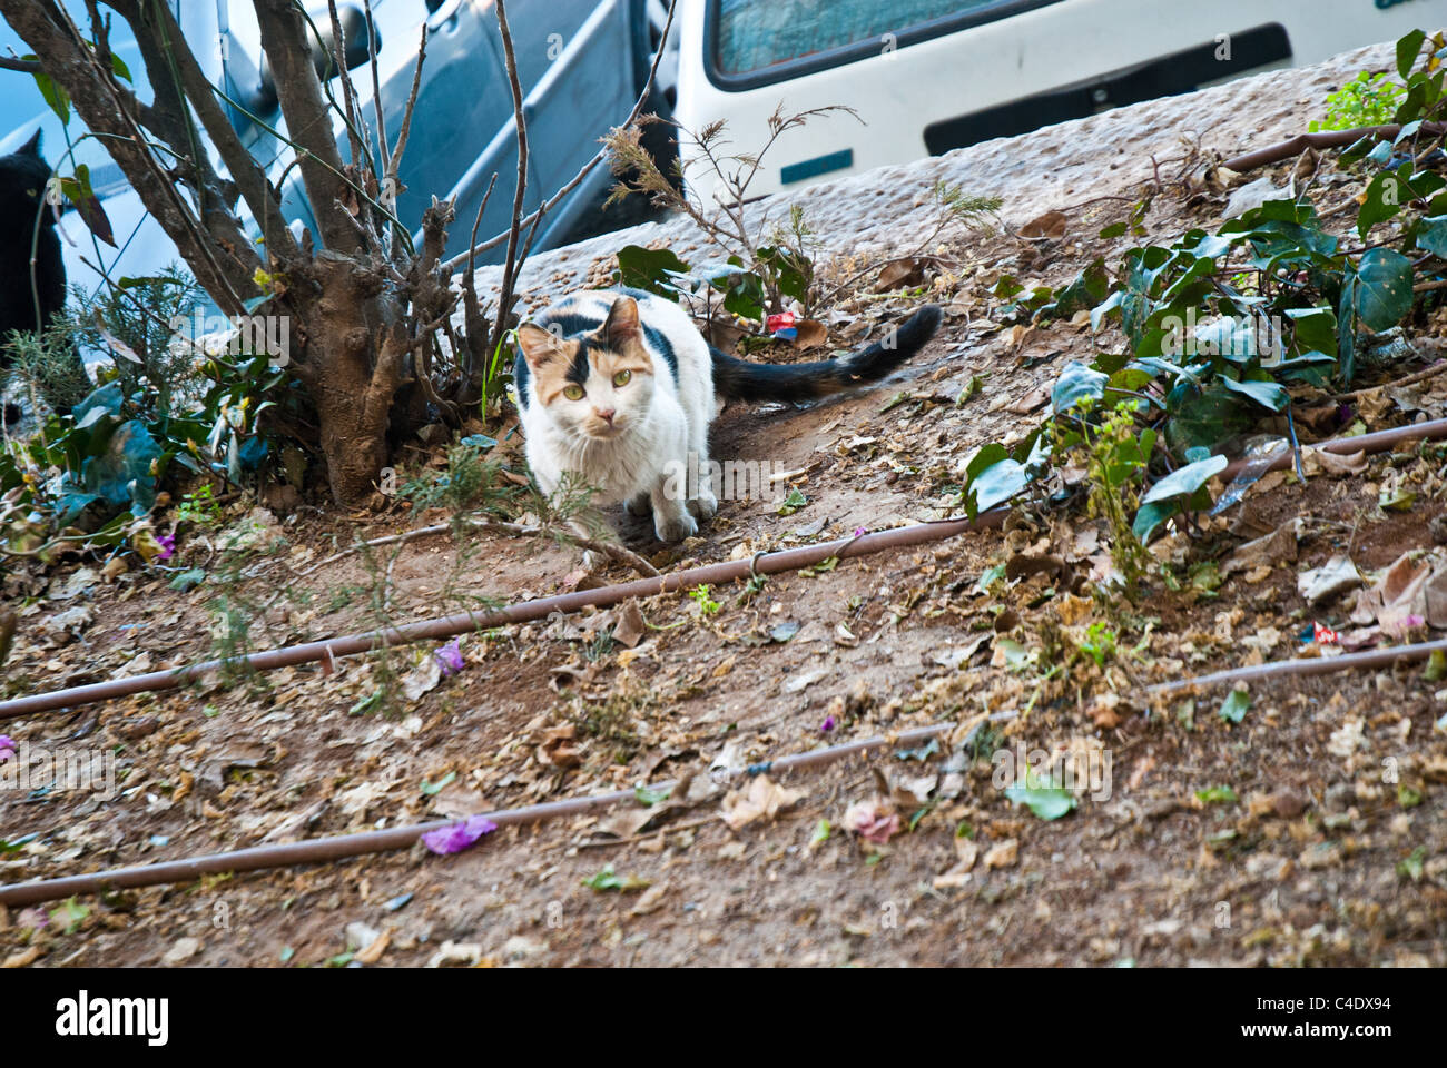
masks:
[[[725,75],[763,71],[883,39],[886,33],[897,38],[935,19],[1019,6],[1011,0],[718,0],[718,4],[713,59]]]

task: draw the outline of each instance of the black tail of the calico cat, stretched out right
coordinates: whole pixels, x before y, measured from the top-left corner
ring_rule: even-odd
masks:
[[[926,304],[867,349],[815,363],[750,363],[709,346],[713,389],[729,401],[799,402],[878,382],[925,347],[939,329],[939,305]]]

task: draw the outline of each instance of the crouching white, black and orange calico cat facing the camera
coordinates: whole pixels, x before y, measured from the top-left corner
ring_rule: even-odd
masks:
[[[589,291],[518,327],[514,381],[528,465],[544,493],[564,472],[599,504],[653,509],[660,541],[680,541],[718,511],[709,478],[713,398],[806,401],[877,382],[939,327],[926,305],[884,342],[818,363],[748,363],[709,346],[673,301]],[[680,492],[683,466],[696,470]]]

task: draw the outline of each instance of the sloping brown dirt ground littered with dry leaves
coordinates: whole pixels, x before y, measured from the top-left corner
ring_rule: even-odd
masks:
[[[1350,191],[1320,190],[1323,203]],[[780,515],[725,501],[700,538],[655,563],[747,559],[952,514],[971,450],[1022,437],[1066,360],[1119,342],[1084,323],[988,318],[985,288],[1001,272],[1059,284],[1095,255],[1119,260],[1129,242],[1095,234],[1124,217],[1132,191],[1103,181],[1092,192],[1123,200],[1066,213],[1049,242],[996,234],[951,249],[926,282],[949,307],[945,326],[899,376],[806,410],[726,410],[715,456],[794,472],[807,504]],[[1146,224],[1155,237],[1210,227],[1223,203],[1159,197]],[[860,300],[835,346],[917,300]],[[851,336],[851,321],[865,329]],[[978,394],[958,399],[977,378]],[[1369,430],[1441,417],[1441,381],[1378,391],[1354,415]],[[515,466],[515,441],[498,457]],[[33,835],[0,854],[4,883],[680,777],[689,787],[651,809],[499,829],[456,855],[417,845],[85,896],[43,916],[0,907],[0,961],[1443,967],[1447,734],[1435,725],[1447,683],[1434,666],[1256,685],[1239,724],[1218,715],[1221,690],[1152,700],[1143,687],[1336,651],[1311,641],[1312,624],[1351,632],[1356,593],[1308,603],[1301,573],[1344,554],[1370,586],[1405,553],[1435,559],[1444,459],[1427,446],[1304,485],[1270,475],[1194,535],[1159,544],[1179,582],[1155,582],[1139,603],[1094,596],[1108,566],[1098,521],[1027,509],[1003,531],[773,576],[752,592],[648,598],[642,627],[608,611],[472,634],[449,677],[427,676],[437,644],[408,648],[391,661],[391,703],[369,703],[388,669],[350,657],[6,721],[16,742],[114,754],[119,781],[114,797],[0,790],[0,838]],[[1411,507],[1383,509],[1402,488]],[[378,567],[391,570],[391,621],[582,579],[573,548],[488,540],[459,559],[446,534],[405,543],[395,560],[383,550],[370,569],[350,556],[302,576],[356,535],[436,517],[252,508],[234,502],[227,524],[260,520],[256,537],[279,550],[227,583],[172,589],[187,569],[221,572],[226,553],[200,531],[169,572],[72,560],[7,576],[6,596],[26,608],[0,696],[203,660],[223,596],[287,593],[247,635],[269,648],[373,625]],[[640,521],[608,518],[638,551],[661,550]],[[1291,537],[1266,557],[1226,563],[1283,528]],[[991,582],[998,566],[1009,570]],[[628,577],[622,566],[605,576]],[[748,777],[709,774],[939,722],[956,726],[936,747],[752,780],[773,816],[744,822],[747,799],[726,794],[750,790]],[[1103,773],[1059,819],[1016,805],[996,774],[1001,754],[1037,750]],[[849,829],[851,806],[871,802],[897,819],[886,842]]]

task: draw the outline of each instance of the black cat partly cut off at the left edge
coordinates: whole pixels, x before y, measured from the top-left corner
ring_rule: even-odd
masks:
[[[55,213],[49,207],[42,210],[45,184],[49,179],[51,168],[41,158],[39,130],[19,152],[0,156],[0,368],[13,360],[13,353],[4,344],[12,330],[33,331],[46,327],[65,305],[65,262],[61,258],[61,239],[55,233]],[[35,315],[36,294],[39,320]],[[17,415],[7,405],[4,412],[7,423]]]

